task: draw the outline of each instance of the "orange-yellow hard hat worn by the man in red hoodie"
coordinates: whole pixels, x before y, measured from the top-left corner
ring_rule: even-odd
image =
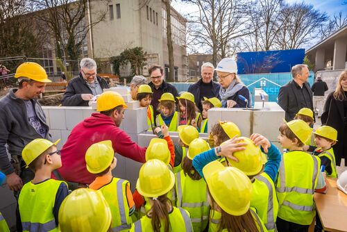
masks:
[[[107,111],[112,110],[117,106],[123,106],[124,109],[128,108],[124,102],[123,97],[118,92],[107,91],[100,94],[99,98],[96,100],[96,110]]]

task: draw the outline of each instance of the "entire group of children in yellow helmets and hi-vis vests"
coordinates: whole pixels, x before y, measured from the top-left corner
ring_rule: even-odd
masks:
[[[140,86],[138,96],[141,87],[146,85]],[[142,100],[149,104],[148,96]],[[260,134],[240,137],[232,122],[214,124],[206,141],[196,129],[197,110],[185,110],[194,99],[183,94],[179,101],[177,125],[192,124],[193,119],[196,124],[177,126],[179,140],[174,144],[171,124],[165,122],[175,115],[175,110],[166,110],[174,108],[174,97],[163,94],[158,138],[146,149],[134,193],[128,181],[112,176],[117,159],[110,140],[87,149],[87,170],[96,178],[88,188],[70,194],[67,183],[51,179],[51,172],[62,165],[59,141],[27,144],[22,157],[35,178],[19,194],[23,230],[307,231],[316,215],[314,191],[325,190],[325,174],[337,177],[332,151],[337,131],[321,126],[312,133],[313,113],[304,108],[280,126],[278,140],[287,149],[283,155]],[[176,119],[171,117],[171,123]]]

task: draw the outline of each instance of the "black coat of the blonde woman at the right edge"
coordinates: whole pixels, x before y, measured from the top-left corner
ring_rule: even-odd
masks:
[[[325,101],[321,122],[322,125],[332,126],[337,130],[338,142],[332,146],[332,149],[334,149],[336,165],[340,165],[341,158],[347,160],[347,149],[344,149],[344,136],[347,136],[346,127],[344,125],[344,101],[335,99],[332,94],[334,94],[334,92],[330,92]],[[347,166],[346,161],[345,166]]]

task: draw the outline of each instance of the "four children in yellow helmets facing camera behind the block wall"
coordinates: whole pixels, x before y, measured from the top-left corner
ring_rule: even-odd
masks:
[[[139,105],[147,108],[147,124],[149,131],[155,127],[166,124],[169,131],[177,131],[180,125],[192,125],[201,133],[208,132],[208,110],[214,107],[221,107],[221,101],[217,97],[210,99],[204,97],[202,102],[202,114],[195,104],[194,95],[190,92],[183,92],[178,99],[178,111],[176,111],[176,99],[174,95],[165,92],[159,99],[158,112],[154,118],[153,106],[151,106],[152,90],[149,85],[140,85],[137,90],[137,100]]]

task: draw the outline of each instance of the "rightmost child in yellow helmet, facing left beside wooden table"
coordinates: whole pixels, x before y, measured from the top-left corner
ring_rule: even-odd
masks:
[[[325,173],[329,177],[337,178],[335,154],[332,145],[337,142],[337,130],[331,126],[321,126],[314,131],[314,142],[317,149],[314,155],[321,159],[321,165],[325,167]]]

